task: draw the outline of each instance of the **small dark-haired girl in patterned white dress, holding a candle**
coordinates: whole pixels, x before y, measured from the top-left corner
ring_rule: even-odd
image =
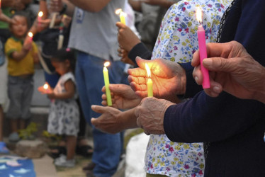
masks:
[[[74,152],[77,145],[77,133],[79,132],[79,108],[77,102],[74,80],[74,52],[69,49],[61,49],[53,55],[52,65],[60,74],[60,79],[55,89],[45,91],[39,87],[39,91],[46,93],[52,101],[48,118],[48,132],[52,134],[66,135],[67,156],[61,155],[55,159],[56,166],[72,167],[75,164]]]

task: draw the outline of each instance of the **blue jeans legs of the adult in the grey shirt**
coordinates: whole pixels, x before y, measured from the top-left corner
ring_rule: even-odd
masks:
[[[87,55],[86,64],[81,66],[84,67],[85,78],[83,82],[86,84],[87,88],[86,95],[89,96],[89,105],[86,106],[86,109],[89,108],[90,110],[91,105],[101,105],[101,89],[104,85],[102,73],[103,63],[103,59]],[[117,74],[117,72],[120,72],[120,74]],[[110,83],[118,83],[115,79],[121,78],[121,74],[123,74],[123,69],[117,70],[115,64],[109,67]],[[91,111],[89,121],[91,118],[97,118],[99,115],[100,114]],[[94,154],[92,156],[92,161],[96,164],[94,175],[112,176],[117,169],[120,160],[120,152],[122,151],[120,133],[110,135],[97,130],[95,127],[92,127],[92,131],[94,137]]]

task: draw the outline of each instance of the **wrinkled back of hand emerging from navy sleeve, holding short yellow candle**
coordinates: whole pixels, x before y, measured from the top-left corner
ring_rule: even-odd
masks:
[[[145,131],[146,135],[164,134],[164,113],[170,105],[174,103],[154,97],[142,99],[135,110],[137,125]]]

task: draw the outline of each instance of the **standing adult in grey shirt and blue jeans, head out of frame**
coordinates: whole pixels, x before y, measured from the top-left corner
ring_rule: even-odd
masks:
[[[119,61],[117,54],[117,28],[120,21],[115,14],[118,8],[124,9],[125,0],[83,1],[70,0],[74,6],[68,47],[77,50],[75,76],[81,108],[90,124],[91,118],[98,117],[90,107],[101,104],[101,88],[104,85],[103,64],[108,60],[108,76],[111,84],[118,84],[123,79],[125,64]],[[57,1],[60,10],[62,1]],[[68,8],[68,7],[67,7]],[[58,9],[59,10],[59,9]],[[123,151],[123,134],[109,135],[92,126],[94,153],[92,163],[86,166],[88,176],[113,176],[120,154]]]

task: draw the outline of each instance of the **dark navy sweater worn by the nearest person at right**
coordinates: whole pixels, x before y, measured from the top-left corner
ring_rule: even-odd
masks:
[[[237,40],[265,65],[265,1],[238,0],[227,16],[221,42]],[[186,103],[171,105],[164,130],[174,142],[210,142],[205,176],[265,176],[265,105],[228,93],[211,98],[194,84],[186,69]],[[198,93],[196,93],[198,92]]]

